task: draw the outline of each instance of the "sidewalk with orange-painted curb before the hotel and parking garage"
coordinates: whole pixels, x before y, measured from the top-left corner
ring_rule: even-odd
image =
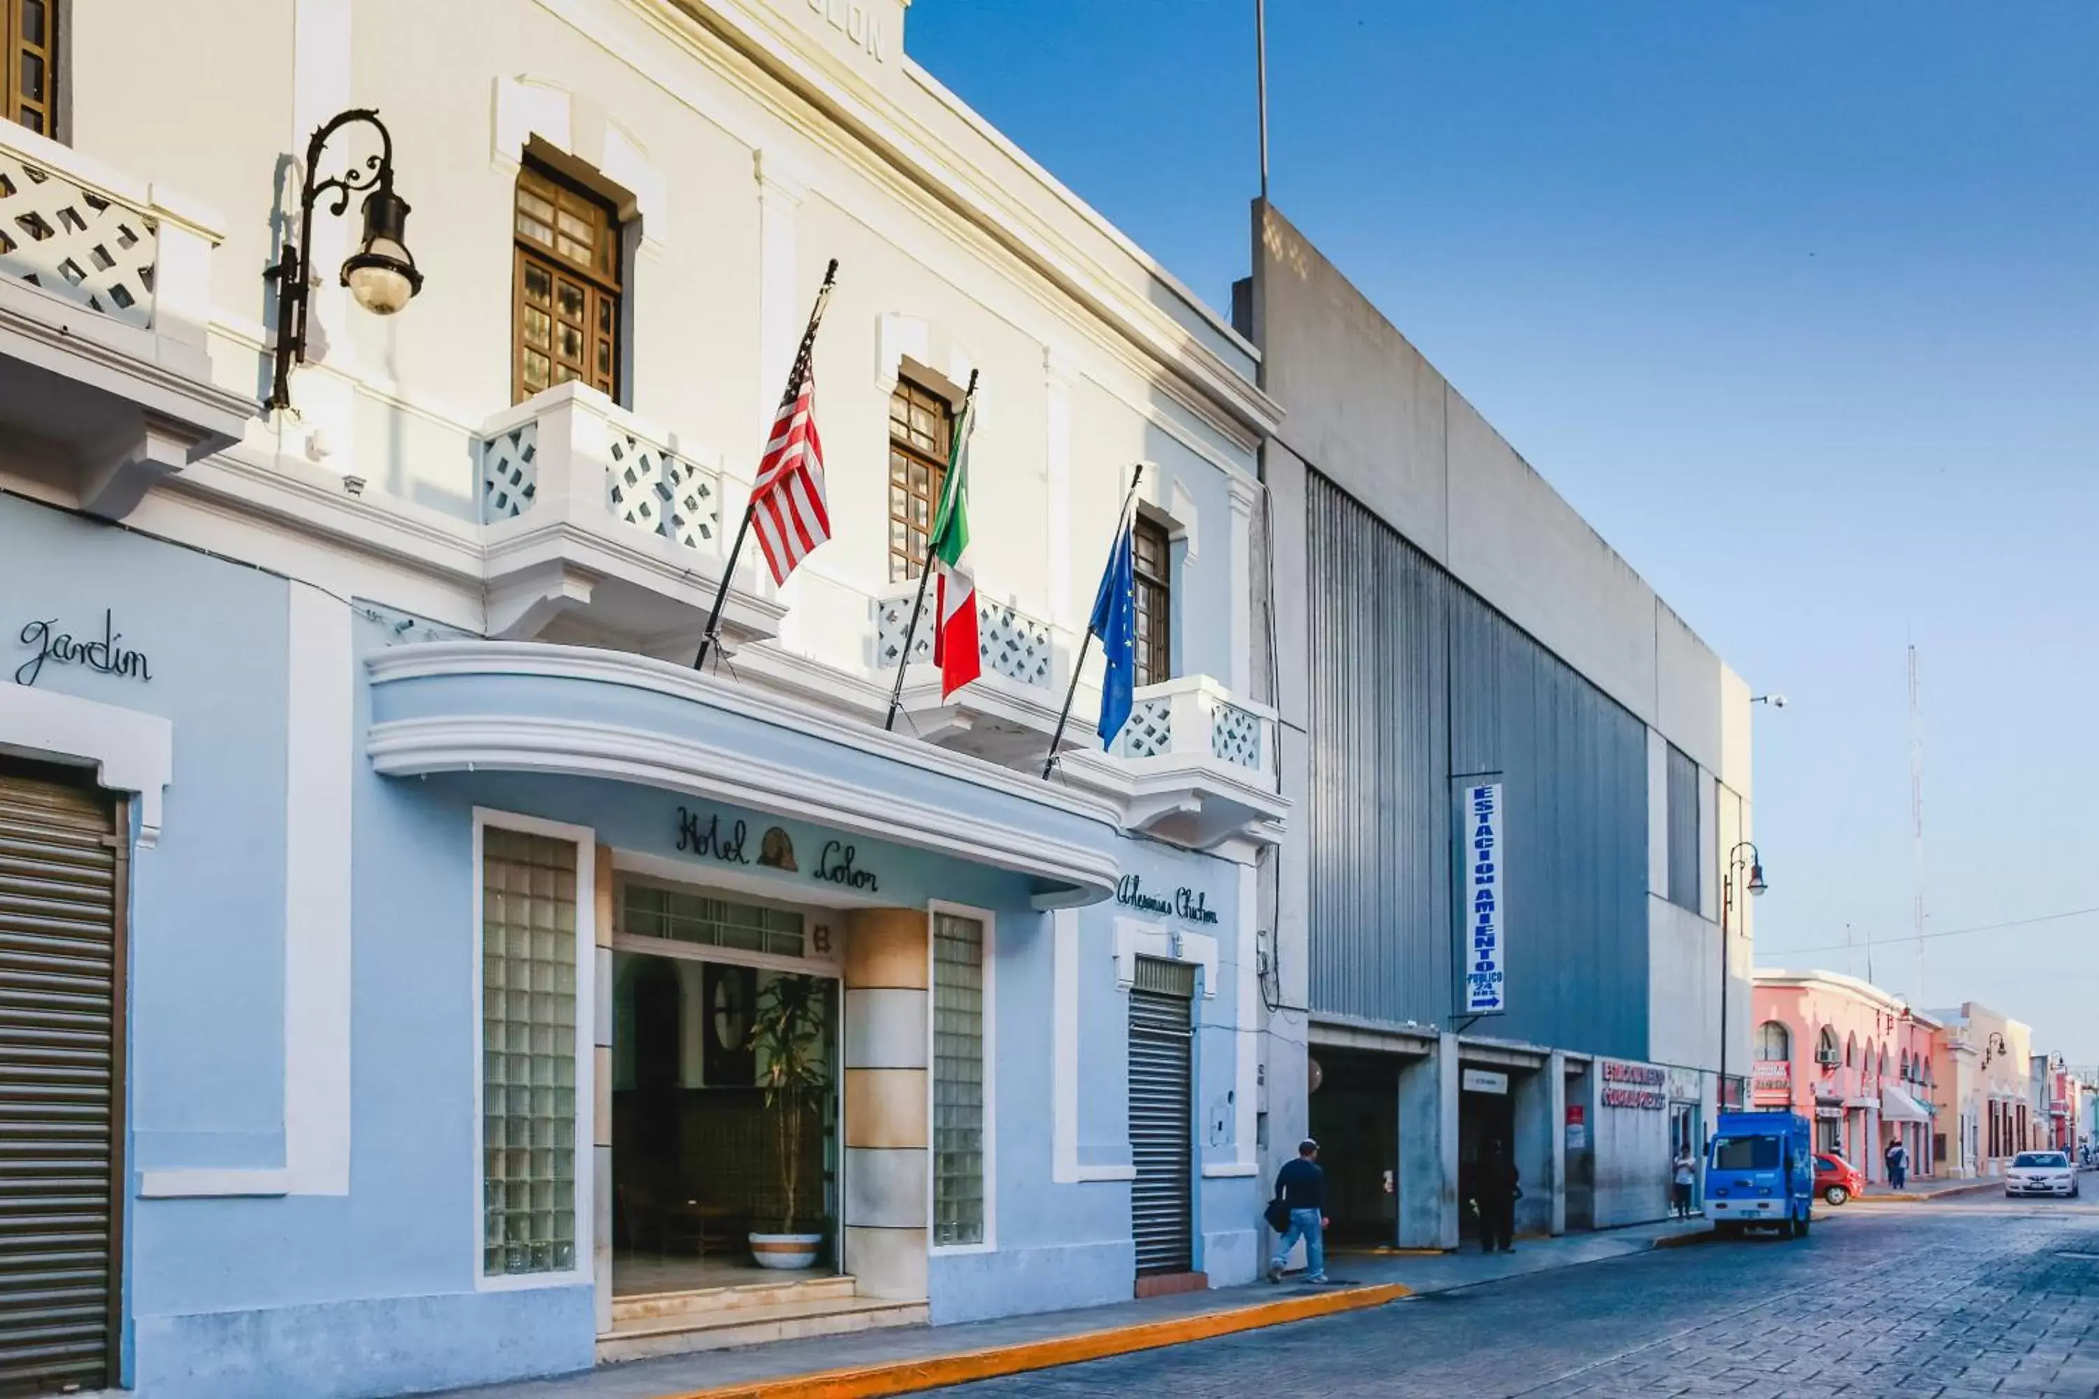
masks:
[[[1184,1292],[1081,1311],[903,1326],[600,1365],[552,1380],[451,1391],[453,1399],[858,1399],[907,1395],[999,1374],[1047,1370],[1207,1340],[1261,1326],[1383,1307],[1408,1294],[1448,1292],[1547,1269],[1623,1258],[1711,1237],[1702,1219],[1633,1225],[1557,1240],[1518,1240],[1513,1254],[1333,1254],[1333,1286],[1295,1277],[1217,1292]]]

